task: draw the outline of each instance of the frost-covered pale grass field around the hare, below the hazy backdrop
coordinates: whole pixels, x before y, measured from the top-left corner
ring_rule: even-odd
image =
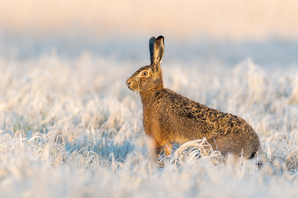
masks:
[[[139,95],[125,85],[141,66],[0,59],[0,197],[297,196],[297,69],[163,61],[167,88],[252,125],[267,158],[259,170],[241,158],[223,164],[204,140],[162,156],[163,168],[150,164]]]

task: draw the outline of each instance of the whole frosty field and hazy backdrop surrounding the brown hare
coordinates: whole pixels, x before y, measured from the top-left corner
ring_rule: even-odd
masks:
[[[297,197],[297,8],[0,0],[0,198]],[[245,119],[272,163],[210,166],[194,150],[163,170],[147,163],[141,100],[125,82],[159,35],[164,86]]]

